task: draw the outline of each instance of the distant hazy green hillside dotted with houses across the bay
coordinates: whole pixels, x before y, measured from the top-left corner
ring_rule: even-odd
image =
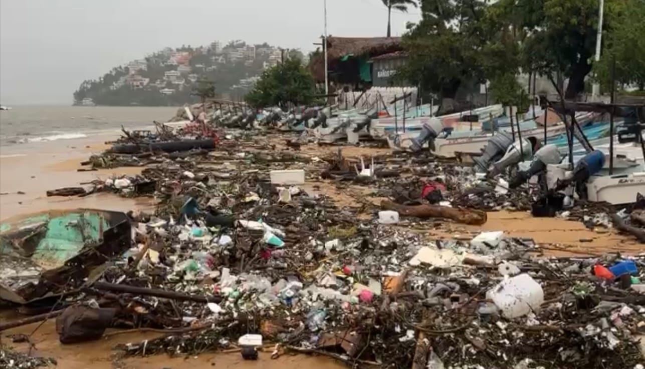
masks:
[[[198,48],[165,48],[112,68],[97,80],[83,81],[74,92],[74,104],[177,106],[197,101],[191,91],[202,79],[215,82],[219,97],[237,100],[255,85],[263,70],[288,55],[303,57],[299,50],[239,40],[224,46],[213,41]]]

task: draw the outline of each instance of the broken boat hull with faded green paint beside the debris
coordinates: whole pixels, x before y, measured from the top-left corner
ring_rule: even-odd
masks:
[[[0,224],[0,299],[25,304],[79,287],[132,245],[124,213],[48,211]]]

